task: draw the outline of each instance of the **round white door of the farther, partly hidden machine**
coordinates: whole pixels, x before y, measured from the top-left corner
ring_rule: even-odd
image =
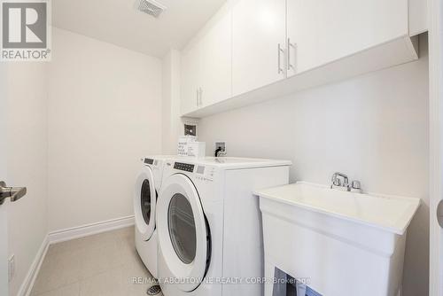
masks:
[[[155,230],[157,191],[151,167],[144,167],[136,179],[134,214],[136,228],[143,240],[149,240]]]

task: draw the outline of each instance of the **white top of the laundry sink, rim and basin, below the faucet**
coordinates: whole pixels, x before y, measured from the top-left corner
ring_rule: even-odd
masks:
[[[304,182],[260,190],[254,194],[400,235],[407,230],[421,202],[420,199],[331,190]]]

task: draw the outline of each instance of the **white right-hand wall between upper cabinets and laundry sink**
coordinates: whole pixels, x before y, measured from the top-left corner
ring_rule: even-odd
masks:
[[[330,183],[340,171],[365,191],[424,199],[408,236],[404,295],[428,294],[428,58],[200,121],[211,155],[293,161],[291,181]]]

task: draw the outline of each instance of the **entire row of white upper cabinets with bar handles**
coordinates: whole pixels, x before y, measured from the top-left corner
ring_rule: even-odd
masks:
[[[228,1],[183,51],[183,116],[282,97],[418,58],[424,0]]]

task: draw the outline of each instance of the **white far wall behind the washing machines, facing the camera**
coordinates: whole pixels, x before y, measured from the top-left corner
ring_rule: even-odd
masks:
[[[161,60],[53,30],[49,230],[133,214],[140,158],[161,152]]]

